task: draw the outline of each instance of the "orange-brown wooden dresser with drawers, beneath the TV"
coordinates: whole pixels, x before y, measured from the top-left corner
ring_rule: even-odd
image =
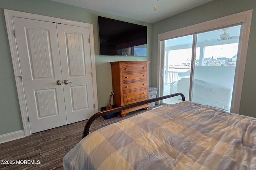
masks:
[[[110,62],[113,100],[116,107],[148,100],[148,63],[150,61]],[[122,117],[131,111],[148,109],[149,105],[123,110]]]

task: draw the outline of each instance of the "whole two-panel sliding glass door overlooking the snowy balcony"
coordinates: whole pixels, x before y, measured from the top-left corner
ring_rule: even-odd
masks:
[[[161,41],[162,95],[230,111],[241,25]],[[172,104],[181,98],[166,99]]]

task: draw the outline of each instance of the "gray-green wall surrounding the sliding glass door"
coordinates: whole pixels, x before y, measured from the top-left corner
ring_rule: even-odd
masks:
[[[157,83],[158,34],[251,9],[253,9],[253,15],[239,112],[242,115],[256,117],[256,0],[214,0],[153,23],[152,86],[156,86]]]

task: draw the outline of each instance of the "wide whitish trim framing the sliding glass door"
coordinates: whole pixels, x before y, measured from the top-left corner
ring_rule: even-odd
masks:
[[[183,27],[180,29],[176,29],[173,31],[168,31],[166,33],[158,34],[158,80],[157,80],[157,86],[159,88],[159,94],[161,91],[160,82],[162,80],[161,69],[163,64],[163,59],[161,60],[161,54],[160,48],[161,48],[161,41],[166,39],[172,39],[176,37],[181,37],[185,35],[191,35],[194,33],[200,33],[204,31],[210,31],[214,29],[218,29],[221,27],[227,27],[232,25],[237,25],[239,23],[242,24],[242,32],[240,35],[240,47],[238,49],[238,56],[242,56],[243,58],[240,58],[240,61],[238,61],[236,66],[236,75],[234,80],[234,87],[233,87],[233,95],[232,95],[232,103],[231,103],[231,112],[232,113],[239,113],[240,109],[240,101],[241,101],[241,94],[242,94],[242,86],[243,86],[243,79],[244,79],[244,69],[245,69],[245,63],[246,63],[246,56],[247,56],[247,48],[248,48],[248,41],[249,41],[249,33],[250,33],[250,27],[251,27],[251,20],[252,20],[252,10],[240,12],[237,14],[232,14],[229,16],[225,16],[222,18],[217,18],[210,21],[205,21],[202,23],[198,23],[195,25],[190,25],[188,27]],[[163,58],[163,57],[162,57]]]

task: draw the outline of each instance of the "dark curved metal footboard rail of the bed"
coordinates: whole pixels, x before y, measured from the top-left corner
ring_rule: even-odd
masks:
[[[181,96],[182,97],[182,101],[185,101],[185,96],[184,94],[182,93],[174,93],[174,94],[170,94],[170,95],[166,95],[166,96],[161,96],[161,97],[158,97],[158,98],[153,98],[153,99],[149,99],[149,100],[144,100],[142,102],[137,102],[137,103],[134,103],[134,104],[129,104],[129,105],[125,105],[125,106],[121,106],[121,107],[116,107],[116,108],[113,108],[113,109],[109,109],[109,110],[104,110],[104,111],[100,111],[98,113],[95,113],[94,115],[92,115],[92,117],[90,117],[90,119],[88,119],[88,121],[86,122],[86,125],[84,126],[84,132],[83,132],[83,135],[82,135],[82,138],[86,137],[87,135],[89,135],[89,129],[90,129],[90,125],[92,125],[92,122],[97,119],[98,117],[100,116],[104,116],[104,115],[108,115],[108,114],[112,114],[112,113],[116,113],[118,111],[122,111],[122,110],[125,110],[125,109],[130,109],[132,107],[136,107],[136,106],[140,106],[140,105],[144,105],[144,104],[148,104],[148,103],[151,103],[151,102],[156,102],[158,100],[164,100],[164,99],[167,99],[167,98],[172,98],[172,97],[175,97],[175,96]]]

